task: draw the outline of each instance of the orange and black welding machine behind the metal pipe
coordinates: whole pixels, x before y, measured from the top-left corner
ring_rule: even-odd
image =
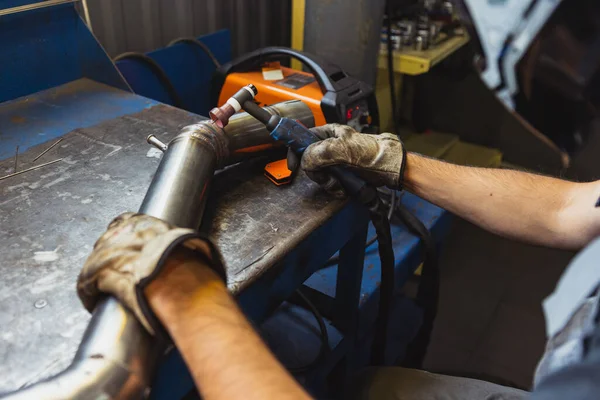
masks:
[[[280,66],[283,79],[266,79],[261,71],[263,64],[287,57],[302,62],[309,72]],[[211,101],[215,105],[227,104],[240,87],[248,84],[257,89],[253,99],[261,106],[286,100],[303,101],[315,117],[315,126],[339,123],[358,132],[375,132],[379,124],[373,88],[311,54],[286,47],[265,47],[244,54],[215,71]],[[265,175],[278,186],[292,180],[286,160],[267,164]]]

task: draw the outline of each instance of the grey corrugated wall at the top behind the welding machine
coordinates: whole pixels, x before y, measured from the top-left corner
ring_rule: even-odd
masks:
[[[233,57],[289,46],[291,0],[88,0],[94,35],[111,57],[148,52],[178,37],[231,31]]]

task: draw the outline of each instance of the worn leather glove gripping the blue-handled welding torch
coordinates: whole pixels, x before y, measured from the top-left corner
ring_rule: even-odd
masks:
[[[327,174],[334,165],[347,167],[373,186],[402,189],[406,150],[396,135],[358,133],[347,125],[329,124],[311,129],[322,140],[302,156],[302,169],[326,190],[337,182]]]

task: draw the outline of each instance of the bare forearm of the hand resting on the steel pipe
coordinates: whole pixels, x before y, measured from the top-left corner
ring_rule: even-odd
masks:
[[[222,280],[193,255],[173,254],[145,293],[204,399],[310,398],[267,349]]]

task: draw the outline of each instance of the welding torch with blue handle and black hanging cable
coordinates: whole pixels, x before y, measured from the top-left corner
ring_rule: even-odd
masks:
[[[310,129],[290,118],[272,115],[258,106],[253,100],[258,89],[250,84],[238,90],[225,105],[215,107],[209,113],[212,121],[220,127],[226,126],[229,118],[240,109],[262,122],[271,137],[285,143],[298,154],[311,144],[318,142],[319,137]],[[387,218],[388,210],[377,194],[377,189],[368,185],[352,172],[339,167],[329,167],[327,171],[341,184],[346,194],[365,205],[371,217],[381,258],[381,296],[376,332],[373,339],[373,363],[383,364],[385,361],[385,343],[387,337],[388,318],[394,294],[394,250]]]

